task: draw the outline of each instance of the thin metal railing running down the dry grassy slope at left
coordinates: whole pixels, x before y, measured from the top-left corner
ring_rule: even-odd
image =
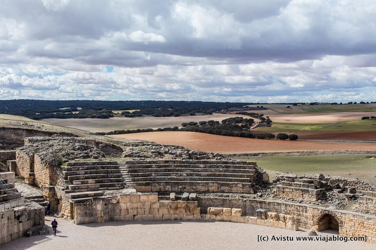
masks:
[[[94,137],[96,140],[104,141],[104,142],[111,142],[113,144],[119,143],[118,140],[115,140],[114,138],[111,138],[106,135],[99,135],[97,133],[92,133],[86,130],[82,129],[76,129],[73,127],[65,127],[65,126],[59,126],[54,125],[50,123],[44,123],[41,121],[23,121],[23,120],[13,120],[13,119],[4,119],[0,118],[0,124],[10,124],[10,125],[20,125],[20,126],[31,126],[38,129],[45,129],[49,131],[59,131],[59,132],[67,132],[72,133],[80,136],[91,136]]]

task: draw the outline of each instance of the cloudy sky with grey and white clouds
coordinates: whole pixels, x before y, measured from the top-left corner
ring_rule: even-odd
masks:
[[[376,101],[374,0],[0,0],[0,99]]]

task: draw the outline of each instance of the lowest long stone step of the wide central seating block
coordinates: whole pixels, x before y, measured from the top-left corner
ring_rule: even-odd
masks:
[[[253,182],[252,178],[230,178],[230,177],[197,177],[197,176],[157,176],[157,177],[136,177],[132,182],[138,181],[222,181],[222,182]]]

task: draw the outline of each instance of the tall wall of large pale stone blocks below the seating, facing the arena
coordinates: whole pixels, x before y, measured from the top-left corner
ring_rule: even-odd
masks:
[[[201,220],[197,201],[158,201],[157,193],[93,197],[74,204],[76,224],[124,220]]]

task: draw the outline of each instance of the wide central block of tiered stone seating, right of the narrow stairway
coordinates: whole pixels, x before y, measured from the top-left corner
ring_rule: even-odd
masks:
[[[254,193],[260,181],[255,163],[241,161],[129,161],[120,169],[140,192]]]

